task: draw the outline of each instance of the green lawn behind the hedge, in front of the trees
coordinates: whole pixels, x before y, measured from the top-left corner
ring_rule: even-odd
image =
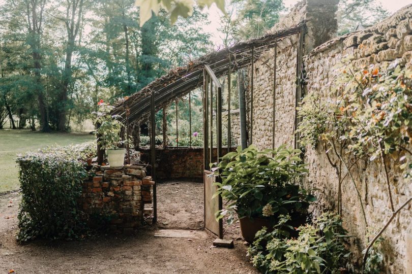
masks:
[[[42,133],[30,130],[0,130],[0,192],[19,188],[17,154],[46,146],[67,146],[92,141],[86,133]]]

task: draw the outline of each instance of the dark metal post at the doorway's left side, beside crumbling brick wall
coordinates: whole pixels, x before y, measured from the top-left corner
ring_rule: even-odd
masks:
[[[156,113],[155,113],[155,92],[152,91],[151,96],[151,156],[152,156],[152,178],[155,181],[153,185],[153,223],[157,221],[157,195],[156,195]]]

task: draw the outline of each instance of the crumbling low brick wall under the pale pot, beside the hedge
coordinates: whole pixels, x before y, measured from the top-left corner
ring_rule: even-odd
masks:
[[[138,165],[121,168],[94,165],[83,182],[79,205],[91,227],[131,233],[143,221],[145,203],[153,202],[152,177]],[[100,222],[99,222],[100,221]]]

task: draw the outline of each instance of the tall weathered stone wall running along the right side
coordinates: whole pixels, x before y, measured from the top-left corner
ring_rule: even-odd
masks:
[[[303,59],[306,71],[305,92],[316,92],[320,96],[330,95],[338,71],[333,66],[342,62],[343,57],[350,57],[350,62],[358,67],[371,64],[386,66],[397,60],[401,65],[412,65],[412,6],[409,5],[385,21],[365,30],[351,32],[332,39],[336,32],[335,12],[337,1],[306,0],[299,3],[291,13],[281,19],[275,29],[289,27],[305,19]],[[322,12],[327,11],[327,12]],[[298,35],[279,42],[277,52],[276,79],[276,129],[273,133],[273,63],[274,51],[270,51],[255,62],[254,101],[253,101],[253,143],[259,148],[272,147],[274,134],[275,146],[293,145],[295,124],[296,93],[296,50]],[[329,40],[329,41],[328,41]],[[323,43],[323,44],[322,44]],[[272,66],[272,67],[271,67]],[[250,68],[249,68],[250,78]],[[249,80],[250,83],[250,80]],[[250,106],[250,85],[248,91]],[[250,109],[249,109],[250,111]],[[249,112],[248,112],[249,113]],[[250,120],[250,114],[248,116]],[[337,161],[338,159],[331,159]],[[305,162],[309,164],[308,188],[316,188],[318,197],[315,215],[325,209],[336,208],[338,177],[336,170],[325,156],[321,144],[315,150],[306,148]],[[356,169],[356,170],[355,170]],[[403,180],[397,172],[393,159],[390,160],[390,180],[393,182],[392,193],[395,208],[412,196],[412,185]],[[369,227],[380,229],[391,216],[385,174],[379,162],[359,162],[354,167],[356,184],[361,191],[362,202],[366,211]],[[345,179],[342,183],[342,206],[344,226],[355,235],[352,250],[358,257],[365,247],[366,227],[360,209],[360,201],[354,185]],[[387,272],[410,273],[410,235],[412,234],[412,213],[409,208],[403,210],[384,233]],[[407,248],[409,246],[409,248]]]

